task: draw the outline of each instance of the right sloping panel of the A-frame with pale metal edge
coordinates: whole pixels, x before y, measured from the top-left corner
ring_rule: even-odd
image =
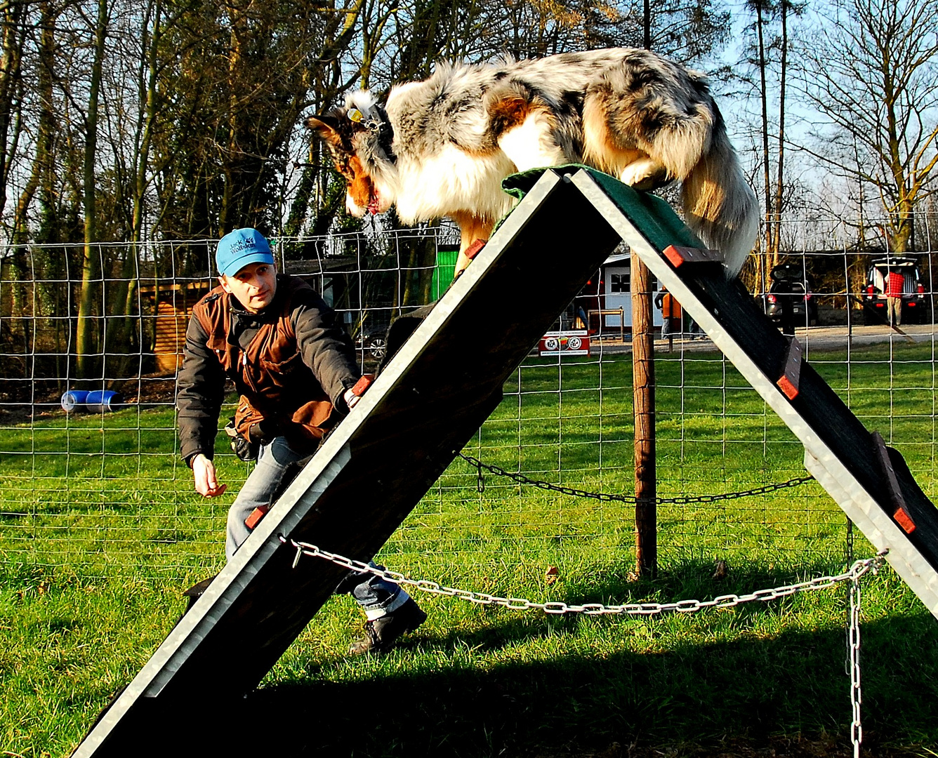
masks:
[[[794,400],[779,387],[788,341],[752,296],[727,280],[719,265],[675,268],[665,257],[669,245],[703,248],[671,207],[605,174],[582,170],[572,181],[794,432],[805,447],[809,472],[877,550],[889,551],[886,560],[938,617],[938,511],[898,451],[886,448],[915,523],[911,534],[890,515],[889,482],[870,432],[825,380],[802,361]]]

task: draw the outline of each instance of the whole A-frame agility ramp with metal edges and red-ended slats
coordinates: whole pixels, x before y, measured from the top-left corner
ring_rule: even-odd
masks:
[[[938,512],[722,266],[650,195],[578,167],[547,170],[327,438],[74,755],[189,755],[193,718],[236,739],[234,705],[332,595],[344,569],[280,536],[367,561],[502,398],[502,385],[621,242],[676,296],[804,444],[805,464],[938,616]],[[525,188],[527,189],[527,188]],[[694,250],[697,249],[697,250]],[[669,257],[670,256],[670,257]],[[221,718],[203,720],[219,707]],[[200,715],[200,716],[195,716]],[[260,714],[276,722],[276,714]],[[324,725],[310,724],[310,730]],[[325,727],[327,728],[327,727]],[[234,730],[236,732],[236,730]],[[216,743],[219,751],[224,747]],[[272,745],[273,749],[273,745]]]

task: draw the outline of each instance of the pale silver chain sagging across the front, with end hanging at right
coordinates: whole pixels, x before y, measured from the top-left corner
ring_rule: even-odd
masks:
[[[548,602],[533,602],[523,598],[500,598],[497,595],[490,595],[487,592],[474,592],[466,589],[456,589],[447,587],[438,582],[432,582],[427,579],[408,579],[399,571],[390,571],[388,569],[379,569],[371,564],[362,561],[356,561],[352,558],[346,558],[338,553],[329,553],[322,548],[312,545],[309,542],[297,542],[295,539],[287,539],[280,535],[280,542],[292,545],[295,548],[293,568],[299,564],[300,558],[304,555],[310,555],[316,558],[323,558],[330,563],[340,566],[343,569],[356,571],[356,573],[370,573],[393,584],[405,584],[414,587],[421,592],[428,592],[432,595],[444,595],[450,598],[458,598],[467,602],[474,602],[479,605],[501,605],[512,611],[529,611],[536,609],[545,614],[586,614],[586,615],[656,615],[663,613],[691,614],[701,611],[704,608],[732,608],[740,603],[752,600],[761,600],[768,602],[777,598],[787,598],[798,592],[810,592],[814,590],[827,589],[840,582],[849,581],[850,587],[850,629],[848,632],[848,647],[850,652],[850,700],[853,706],[853,721],[850,725],[850,738],[854,744],[854,758],[860,758],[860,744],[863,741],[863,727],[860,721],[860,578],[864,574],[872,571],[876,573],[885,560],[888,550],[877,553],[872,558],[857,560],[843,573],[832,576],[821,576],[816,579],[810,579],[807,582],[798,582],[796,584],[783,584],[780,587],[771,589],[761,589],[748,595],[720,595],[712,600],[678,600],[677,602],[642,602],[642,603],[624,603],[622,605],[604,605],[602,603],[582,603],[569,604],[559,600]]]

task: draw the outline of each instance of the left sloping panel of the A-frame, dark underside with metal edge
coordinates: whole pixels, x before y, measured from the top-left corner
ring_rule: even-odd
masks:
[[[619,242],[565,177],[543,174],[75,755],[174,754],[168,724],[254,688],[343,574],[293,569],[279,535],[369,560]]]

